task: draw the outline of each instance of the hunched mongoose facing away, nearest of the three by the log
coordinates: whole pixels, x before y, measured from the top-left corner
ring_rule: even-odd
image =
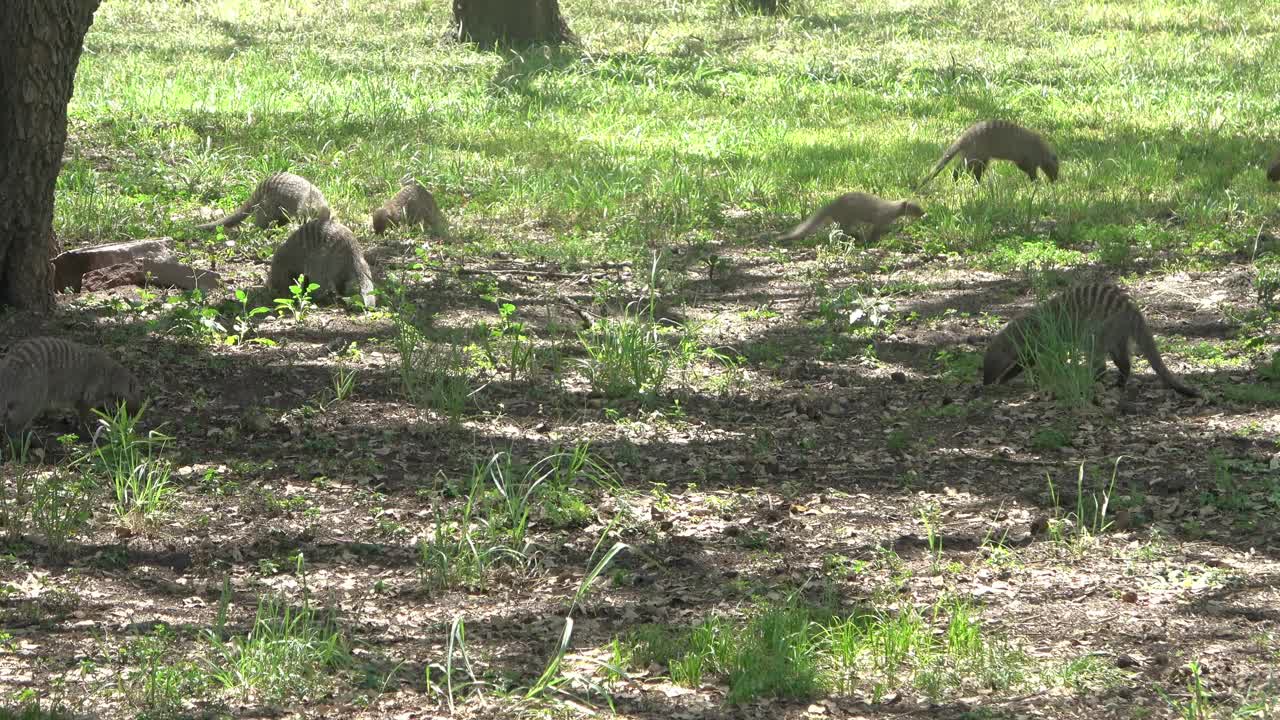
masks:
[[[355,233],[338,220],[311,220],[284,241],[271,258],[270,286],[288,292],[298,275],[320,286],[320,293],[360,295],[366,307],[375,305],[374,278]]]

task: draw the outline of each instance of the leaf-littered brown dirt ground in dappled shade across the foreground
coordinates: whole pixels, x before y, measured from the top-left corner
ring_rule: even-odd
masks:
[[[717,682],[681,688],[650,667],[612,685],[618,716],[1158,717],[1172,714],[1161,692],[1185,694],[1192,660],[1215,702],[1276,692],[1280,497],[1270,488],[1280,420],[1265,405],[1221,393],[1263,382],[1230,342],[1254,306],[1248,266],[1125,278],[1170,369],[1204,398],[1175,395],[1139,361],[1132,396],[1111,387],[1112,369],[1097,402],[1068,410],[1025,379],[980,392],[977,383],[986,338],[1033,301],[1036,278],[881,249],[840,258],[820,243],[714,252],[714,260],[666,256],[658,314],[696,325],[707,347],[742,361],[696,363],[662,401],[643,404],[593,395],[576,366],[575,332],[584,311],[616,315],[644,297],[648,269],[558,268],[433,247],[440,266],[407,283],[422,316],[433,315],[429,337],[456,341],[477,319],[494,322],[494,304],[476,291],[484,282],[518,309],[539,343],[564,350],[558,370],[515,380],[500,369],[477,372],[458,423],[404,400],[385,314],[328,306],[302,323],[269,316],[257,334],[275,347],[215,346],[166,332],[163,322],[148,325],[164,320],[163,306],[113,309],[136,290],[64,296],[51,318],[0,319],[6,343],[38,333],[102,343],[146,378],[154,401],[146,424],[174,436],[168,452],[178,468],[178,492],[156,525],[120,529],[104,498],[69,552],[32,541],[0,559],[0,625],[12,634],[0,650],[0,688],[33,689],[90,716],[136,716],[116,689],[124,666],[113,648],[165,624],[197,652],[224,580],[230,624],[246,630],[262,593],[300,592],[291,559],[301,553],[307,591],[337,609],[362,670],[323,702],[228,701],[210,711],[443,716],[440,685],[424,678],[445,662],[452,620],[465,618],[480,676],[527,685],[554,652],[567,598],[602,530],[621,514],[611,542],[630,548],[575,611],[563,666],[571,679],[590,676],[609,641],[631,628],[733,615],[751,598],[826,593],[844,606],[886,597],[905,605],[951,593],[977,602],[984,630],[1032,659],[1093,656],[1125,680],[1102,692],[975,694],[942,705],[902,689],[874,705],[851,694],[728,706]],[[381,272],[415,261],[411,245],[388,242],[372,254]],[[233,287],[265,275],[243,259],[219,269]],[[832,332],[815,278],[829,288],[900,288],[881,296],[891,327]],[[612,297],[595,302],[605,286]],[[1263,338],[1263,350],[1275,340]],[[358,360],[343,352],[352,342]],[[1225,350],[1202,361],[1183,351],[1197,343]],[[337,364],[356,369],[355,391],[317,402]],[[40,429],[60,427],[49,420]],[[1046,428],[1065,442],[1043,442]],[[415,546],[451,482],[495,451],[536,459],[588,439],[621,482],[621,492],[593,492],[589,523],[557,529],[535,518],[535,561],[483,587],[422,585]],[[50,448],[49,460],[59,452]],[[1083,544],[1057,542],[1046,528],[1075,507],[1082,464],[1087,492],[1115,475],[1112,525]],[[1235,510],[1221,501],[1215,468],[1222,466],[1244,497]],[[933,533],[925,515],[937,518]],[[931,550],[938,539],[940,555]],[[456,707],[475,717],[517,711],[609,714],[598,697],[594,708],[577,701],[535,708],[479,687]]]

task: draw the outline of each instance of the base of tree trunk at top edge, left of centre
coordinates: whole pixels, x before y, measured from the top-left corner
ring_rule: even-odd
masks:
[[[558,0],[453,0],[458,40],[481,47],[573,40]]]

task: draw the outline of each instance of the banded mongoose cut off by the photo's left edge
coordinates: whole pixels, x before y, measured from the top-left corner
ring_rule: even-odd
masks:
[[[138,379],[110,355],[58,337],[15,342],[0,359],[0,425],[10,436],[52,409],[72,409],[88,427],[93,407],[142,405]]]

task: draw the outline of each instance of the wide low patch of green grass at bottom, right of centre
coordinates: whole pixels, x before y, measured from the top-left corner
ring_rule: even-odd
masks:
[[[820,692],[878,698],[905,688],[943,698],[1032,679],[1029,659],[989,638],[974,607],[957,600],[925,612],[908,605],[851,615],[763,605],[742,619],[712,616],[685,630],[644,625],[627,644],[632,666],[663,665],[677,684],[722,679],[731,703]]]

